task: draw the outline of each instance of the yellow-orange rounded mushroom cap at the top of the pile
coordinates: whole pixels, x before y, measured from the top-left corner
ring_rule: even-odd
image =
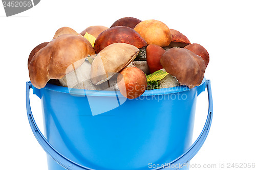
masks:
[[[138,23],[134,30],[146,40],[148,45],[168,46],[172,38],[170,29],[163,22],[154,19]]]

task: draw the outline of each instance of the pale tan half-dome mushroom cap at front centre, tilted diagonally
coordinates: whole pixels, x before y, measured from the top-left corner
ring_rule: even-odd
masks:
[[[99,85],[130,64],[139,54],[139,49],[131,44],[113,43],[106,46],[93,60],[91,81]]]

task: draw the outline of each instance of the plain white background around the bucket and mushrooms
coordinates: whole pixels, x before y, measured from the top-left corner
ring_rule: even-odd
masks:
[[[47,169],[46,153],[33,136],[26,115],[31,50],[50,41],[60,27],[80,33],[89,26],[110,27],[126,16],[161,20],[191,43],[203,45],[210,55],[205,77],[211,80],[214,119],[191,164],[217,164],[214,169],[220,169],[220,163],[256,163],[254,1],[41,0],[12,17],[6,17],[2,4],[0,7],[1,169]],[[40,101],[34,95],[31,104],[42,130]],[[204,92],[198,98],[194,140],[205,123],[207,107]]]

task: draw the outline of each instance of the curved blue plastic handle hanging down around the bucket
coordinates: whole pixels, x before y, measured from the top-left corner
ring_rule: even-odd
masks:
[[[207,87],[207,91],[208,91],[209,108],[208,108],[208,116],[206,119],[206,123],[204,125],[204,128],[203,128],[201,134],[199,135],[197,140],[193,143],[193,145],[191,145],[191,147],[185,153],[183,153],[181,156],[179,156],[174,161],[172,161],[168,164],[165,164],[165,166],[156,168],[154,170],[165,169],[165,168],[168,168],[168,169],[182,168],[182,166],[185,165],[188,161],[190,161],[201,149],[201,147],[209,133],[209,130],[210,130],[210,125],[211,125],[211,120],[212,120],[212,111],[213,111],[210,80],[206,80],[205,82],[206,82],[205,86]],[[32,111],[31,111],[30,101],[29,101],[29,89],[30,88],[32,88],[32,84],[31,84],[31,82],[27,82],[27,86],[26,86],[27,115],[28,115],[30,127],[31,127],[37,141],[41,145],[41,147],[46,151],[46,153],[50,157],[52,157],[57,163],[59,163],[61,166],[65,167],[66,169],[93,170],[91,168],[79,165],[79,164],[73,162],[72,160],[66,158],[65,156],[61,155],[58,151],[56,151],[53,148],[53,146],[49,143],[49,141],[45,138],[45,136],[42,135],[42,133],[40,132],[40,130],[38,129],[38,127],[35,123],[35,120],[34,120],[34,117],[33,117]]]

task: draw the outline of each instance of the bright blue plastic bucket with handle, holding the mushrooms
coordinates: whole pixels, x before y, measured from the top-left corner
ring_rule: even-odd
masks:
[[[205,127],[191,145],[197,96],[208,87]],[[30,109],[29,89],[42,103],[44,137]],[[146,90],[129,100],[119,91],[94,91],[27,82],[32,131],[48,153],[48,169],[178,169],[201,148],[212,117],[210,82]],[[172,165],[172,166],[171,166]],[[188,169],[188,166],[183,169]]]

